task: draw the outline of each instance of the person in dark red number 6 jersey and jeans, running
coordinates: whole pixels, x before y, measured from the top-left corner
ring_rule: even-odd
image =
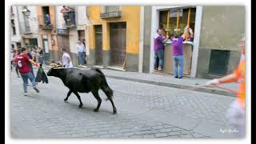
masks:
[[[22,53],[19,54],[16,58],[14,58],[14,62],[16,62],[18,66],[19,73],[22,76],[23,81],[23,89],[24,89],[24,95],[27,95],[27,86],[28,79],[30,79],[30,82],[32,83],[33,89],[39,93],[38,88],[36,87],[35,79],[33,74],[30,71],[29,64],[32,63],[34,66],[38,66],[37,62],[34,62],[30,59],[30,57],[27,55],[26,48],[22,47]]]

